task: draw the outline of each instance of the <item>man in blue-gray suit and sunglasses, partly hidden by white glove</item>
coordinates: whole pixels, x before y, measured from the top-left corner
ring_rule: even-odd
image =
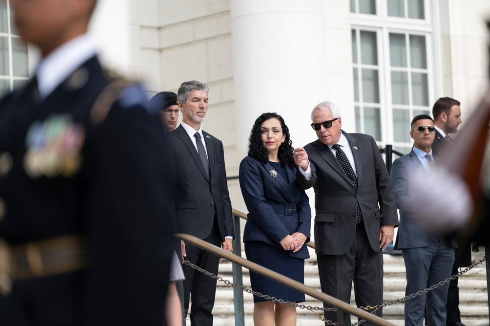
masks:
[[[451,241],[439,234],[424,230],[414,207],[417,203],[407,196],[407,184],[417,171],[430,173],[437,162],[432,153],[436,128],[429,115],[417,115],[411,124],[410,137],[414,139],[412,152],[396,159],[392,166],[392,184],[396,206],[400,209],[400,227],[395,249],[401,249],[407,270],[406,295],[422,291],[451,276],[454,248]],[[418,172],[420,173],[420,172]],[[454,243],[455,244],[455,243]],[[455,244],[456,245],[456,244]],[[405,301],[405,325],[423,326],[424,307],[427,309],[427,324],[446,324],[446,299],[449,283],[432,291]]]

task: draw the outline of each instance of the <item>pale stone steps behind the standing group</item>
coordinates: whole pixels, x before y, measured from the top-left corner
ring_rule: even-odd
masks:
[[[245,253],[243,256],[245,258]],[[311,258],[305,262],[305,284],[320,290],[318,279],[318,269],[316,256],[313,250],[310,250]],[[401,255],[384,256],[384,301],[394,301],[405,296],[405,265]],[[483,259],[484,250],[479,253],[473,253],[473,261]],[[223,279],[233,282],[232,265],[229,261],[223,261],[220,265],[219,276]],[[243,283],[246,288],[250,288],[248,270],[243,268]],[[466,326],[489,326],[489,310],[487,296],[487,277],[485,262],[476,266],[466,274],[462,275],[459,280],[460,288],[460,310],[462,313],[462,322]],[[306,296],[305,305],[322,306],[322,304],[309,296]],[[352,291],[351,304],[354,304],[354,291]],[[374,303],[373,303],[374,304]],[[403,303],[393,304],[383,309],[383,318],[390,320],[396,325],[404,325]],[[249,293],[244,292],[245,306],[245,325],[253,325],[253,298]],[[215,326],[233,326],[234,319],[234,298],[233,288],[222,282],[218,282],[216,293],[216,304],[213,309]],[[323,323],[309,310],[297,309],[298,326],[323,326]],[[352,322],[356,322],[353,318]],[[190,325],[189,318],[187,325]]]

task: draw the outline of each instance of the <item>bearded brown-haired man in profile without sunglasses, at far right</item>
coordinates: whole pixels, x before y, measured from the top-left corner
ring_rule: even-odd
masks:
[[[452,143],[450,133],[458,132],[461,124],[461,103],[450,97],[441,97],[432,107],[432,116],[436,126],[436,136],[432,144],[432,150],[438,155],[444,148],[449,148]],[[452,275],[458,273],[460,267],[471,265],[470,244],[458,247],[454,253],[454,264]],[[459,310],[459,288],[458,278],[449,282],[446,304],[448,326],[464,326],[461,323],[461,312]]]

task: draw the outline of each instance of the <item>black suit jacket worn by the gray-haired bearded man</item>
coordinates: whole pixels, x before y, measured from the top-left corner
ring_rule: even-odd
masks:
[[[166,135],[170,140],[177,167],[175,215],[180,233],[205,239],[211,233],[216,214],[221,241],[235,238],[231,201],[226,181],[224,150],[221,140],[202,131],[208,153],[210,178],[189,134],[179,126]]]

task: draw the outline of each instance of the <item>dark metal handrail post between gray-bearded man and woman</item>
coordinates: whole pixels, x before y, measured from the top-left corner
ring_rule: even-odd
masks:
[[[240,236],[240,217],[233,214],[233,224],[235,226],[235,244],[233,253],[242,257],[242,238]],[[233,283],[243,286],[242,266],[232,262]],[[237,287],[233,288],[233,304],[235,305],[235,325],[245,326],[244,293]]]

